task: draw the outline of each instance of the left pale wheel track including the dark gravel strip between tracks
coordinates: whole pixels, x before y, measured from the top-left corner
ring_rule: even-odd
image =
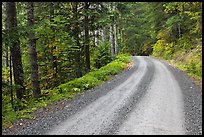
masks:
[[[125,82],[45,134],[114,134],[145,94],[154,74],[149,59],[137,57],[137,61],[140,62],[137,71]]]

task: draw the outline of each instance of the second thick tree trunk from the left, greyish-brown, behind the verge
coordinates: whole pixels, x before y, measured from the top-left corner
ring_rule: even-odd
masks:
[[[34,26],[34,3],[28,2],[28,27]],[[38,64],[37,64],[37,52],[36,52],[36,39],[34,32],[29,32],[29,54],[30,54],[30,68],[33,86],[33,96],[39,97],[40,95],[40,83],[38,81]]]

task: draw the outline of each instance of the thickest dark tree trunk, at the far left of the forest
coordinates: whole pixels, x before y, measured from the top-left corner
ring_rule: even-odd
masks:
[[[6,2],[6,15],[7,15],[7,25],[10,31],[10,50],[11,58],[13,63],[14,71],[14,82],[17,86],[16,88],[16,97],[22,99],[25,88],[24,88],[24,73],[23,66],[21,61],[21,50],[20,50],[20,41],[17,31],[17,18],[16,18],[16,4],[15,2]]]

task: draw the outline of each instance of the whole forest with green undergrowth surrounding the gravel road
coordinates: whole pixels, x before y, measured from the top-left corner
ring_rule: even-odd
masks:
[[[131,56],[202,80],[202,2],[2,2],[3,126],[94,88]]]

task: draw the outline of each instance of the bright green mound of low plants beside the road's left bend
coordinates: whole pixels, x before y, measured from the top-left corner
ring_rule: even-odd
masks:
[[[115,61],[96,71],[89,72],[81,78],[59,85],[55,90],[58,93],[80,92],[99,85],[102,81],[107,80],[109,76],[121,72],[126,64],[130,62],[130,56],[126,54],[120,54],[116,58]]]

